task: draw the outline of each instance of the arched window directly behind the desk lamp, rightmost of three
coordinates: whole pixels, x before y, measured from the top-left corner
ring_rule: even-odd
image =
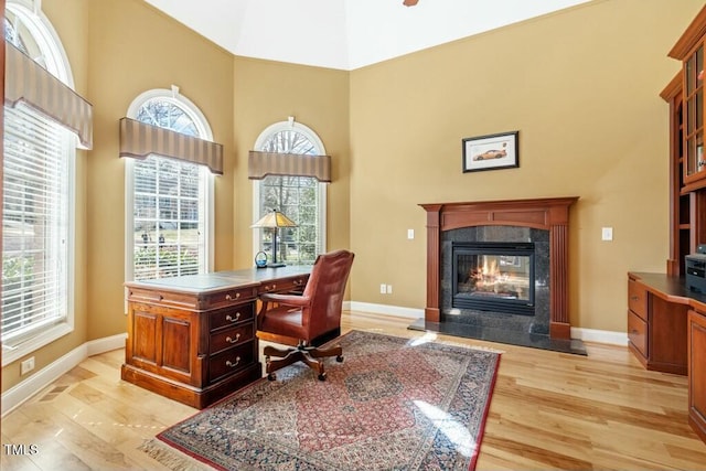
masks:
[[[309,127],[288,121],[266,128],[255,142],[255,150],[276,153],[323,156],[325,149]],[[281,211],[297,223],[279,229],[278,261],[310,265],[325,251],[327,184],[313,176],[267,175],[254,180],[254,221],[272,210]],[[271,258],[272,232],[254,229],[254,251],[266,251]]]

